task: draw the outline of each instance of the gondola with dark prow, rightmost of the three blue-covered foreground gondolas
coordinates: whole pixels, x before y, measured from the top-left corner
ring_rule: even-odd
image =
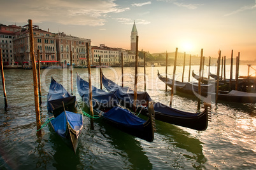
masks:
[[[104,87],[115,94],[118,100],[125,105],[125,107],[133,107],[133,95],[134,91],[130,88],[122,88],[115,82],[107,79],[103,75],[103,85]],[[138,92],[139,104],[137,105],[137,112],[141,114],[148,115],[148,105],[145,102],[145,98],[152,101],[148,93]],[[208,112],[210,105],[204,103],[204,110],[200,113],[190,113],[177,110],[175,108],[168,107],[160,102],[153,102],[153,108],[155,111],[155,119],[169,124],[175,124],[185,128],[196,129],[198,131],[204,131],[208,127],[208,121],[211,120],[211,114]],[[210,110],[209,110],[210,111]]]

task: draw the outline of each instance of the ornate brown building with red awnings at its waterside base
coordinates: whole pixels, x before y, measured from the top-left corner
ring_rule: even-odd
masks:
[[[34,55],[39,58],[43,65],[55,65],[59,63],[56,55],[55,36],[46,30],[39,29],[38,25],[33,25],[34,37]],[[29,43],[29,25],[24,25],[13,39],[14,60],[23,65],[25,68],[31,68],[31,53]]]

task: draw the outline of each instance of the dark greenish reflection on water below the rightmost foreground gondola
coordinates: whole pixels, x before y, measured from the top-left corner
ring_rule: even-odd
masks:
[[[194,167],[203,169],[207,159],[203,154],[203,143],[191,136],[187,131],[178,126],[157,121],[157,133],[159,134],[158,146],[166,146],[162,150],[159,159],[166,161],[175,169]],[[187,161],[189,160],[189,161]]]

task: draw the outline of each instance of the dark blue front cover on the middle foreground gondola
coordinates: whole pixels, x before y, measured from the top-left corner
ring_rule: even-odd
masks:
[[[120,107],[111,108],[111,110],[104,113],[103,116],[110,121],[122,124],[122,126],[141,126],[141,128],[143,128],[143,124],[146,122],[132,114],[129,110]]]

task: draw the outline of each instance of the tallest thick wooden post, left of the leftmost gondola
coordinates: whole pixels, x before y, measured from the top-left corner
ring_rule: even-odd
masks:
[[[29,20],[29,48],[31,54],[32,70],[33,70],[33,81],[34,81],[34,104],[36,108],[36,129],[41,128],[40,110],[38,101],[38,77],[36,76],[36,58],[34,56],[34,37],[32,29],[32,20]],[[41,130],[38,131],[41,134]]]

